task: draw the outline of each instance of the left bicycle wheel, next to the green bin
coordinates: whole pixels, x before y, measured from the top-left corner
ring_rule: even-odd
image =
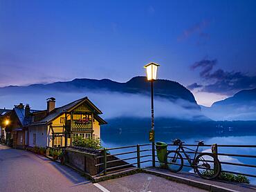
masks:
[[[178,151],[169,151],[166,155],[166,164],[170,171],[176,173],[183,167],[183,157]]]

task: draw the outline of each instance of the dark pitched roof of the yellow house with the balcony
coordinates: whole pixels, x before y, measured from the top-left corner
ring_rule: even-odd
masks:
[[[82,99],[77,99],[74,102],[71,102],[69,104],[66,104],[64,106],[61,106],[59,108],[55,108],[53,111],[51,111],[51,113],[49,113],[48,115],[46,115],[46,117],[44,117],[44,119],[41,119],[39,122],[33,122],[31,125],[36,125],[36,124],[48,124],[50,122],[52,122],[54,119],[56,119],[57,117],[59,117],[60,115],[64,114],[65,112],[70,112],[73,110],[73,108],[79,106],[80,104],[82,104],[83,102],[86,102],[86,104],[88,104],[92,109],[93,109],[93,113],[95,113],[95,119],[98,120],[98,122],[100,122],[100,124],[107,124],[107,122],[104,121],[104,119],[102,119],[100,116],[100,114],[102,114],[102,112],[100,111],[99,108],[97,108],[89,99],[88,97],[84,97]],[[38,112],[38,111],[37,111]],[[36,113],[37,113],[36,112]]]

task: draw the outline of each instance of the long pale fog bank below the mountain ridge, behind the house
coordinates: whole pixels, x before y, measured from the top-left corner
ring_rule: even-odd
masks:
[[[147,95],[117,93],[106,90],[83,92],[59,92],[53,90],[39,90],[34,93],[0,94],[0,108],[13,108],[15,104],[30,104],[32,109],[46,109],[46,99],[55,97],[56,107],[82,97],[89,99],[103,112],[102,117],[112,119],[116,117],[151,117],[151,100]],[[154,98],[155,117],[170,117],[174,119],[193,120],[204,119],[196,105],[183,99],[173,102],[161,97]]]

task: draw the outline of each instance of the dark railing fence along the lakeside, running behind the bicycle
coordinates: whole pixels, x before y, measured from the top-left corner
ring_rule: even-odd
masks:
[[[144,148],[144,147],[148,147],[148,148]],[[114,147],[114,148],[104,148],[104,150],[102,150],[102,154],[101,156],[98,156],[97,158],[101,158],[102,159],[102,163],[100,164],[96,164],[95,166],[104,166],[104,169],[102,171],[102,173],[104,173],[104,175],[107,175],[108,173],[111,172],[111,170],[113,169],[122,169],[122,168],[126,168],[127,166],[136,166],[138,168],[142,167],[142,164],[145,164],[147,162],[152,162],[152,164],[150,164],[149,166],[154,166],[154,162],[159,162],[158,160],[155,160],[155,156],[156,154],[152,153],[152,144],[137,144],[137,145],[132,145],[132,146],[121,146],[121,147]],[[176,147],[176,145],[174,144],[168,144],[169,147]],[[191,146],[191,147],[196,147],[197,144],[183,144],[183,146]],[[228,156],[228,157],[244,157],[244,158],[253,158],[253,160],[255,160],[254,162],[256,163],[256,155],[243,155],[243,154],[232,154],[232,153],[219,153],[221,148],[255,148],[256,149],[256,145],[217,145],[217,144],[204,144],[203,146],[200,146],[199,148],[205,148],[205,147],[211,147],[211,152],[214,153],[215,155],[217,155],[217,157],[219,157],[219,160],[221,162],[221,165],[225,164],[225,165],[229,165],[229,166],[239,166],[239,167],[248,167],[250,169],[255,169],[256,168],[256,164],[242,164],[239,162],[227,162],[227,161],[221,161],[221,156]],[[129,149],[129,150],[128,150]],[[117,150],[121,150],[121,153],[113,153],[111,154],[111,151],[117,151]],[[125,151],[125,152],[122,152]],[[191,153],[194,154],[194,151],[185,151],[186,153]],[[146,154],[145,154],[146,153]],[[200,152],[198,152],[198,154],[200,154]],[[118,160],[107,160],[107,157],[109,156],[117,156]],[[125,157],[122,157],[125,156]],[[127,162],[127,164],[121,165],[121,166],[111,166],[108,167],[108,164],[110,163],[114,163],[114,162],[119,162],[119,161],[125,161]],[[131,162],[129,162],[131,161]],[[184,166],[188,166],[186,164],[184,164]],[[249,174],[249,173],[243,173],[243,171],[230,171],[230,170],[225,170],[223,169],[222,172],[225,173],[234,173],[237,175],[244,175],[244,176],[248,176],[248,177],[256,177],[256,174]],[[253,172],[253,171],[252,171]],[[255,173],[256,173],[256,169],[255,169]]]

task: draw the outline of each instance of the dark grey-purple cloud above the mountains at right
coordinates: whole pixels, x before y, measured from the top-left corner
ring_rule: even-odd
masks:
[[[256,76],[248,76],[246,73],[235,71],[213,70],[217,59],[203,59],[194,63],[191,68],[201,68],[200,77],[207,83],[201,86],[201,91],[219,93],[221,95],[233,95],[239,90],[256,87]],[[197,84],[192,84],[196,86]],[[190,86],[192,86],[190,85]]]

